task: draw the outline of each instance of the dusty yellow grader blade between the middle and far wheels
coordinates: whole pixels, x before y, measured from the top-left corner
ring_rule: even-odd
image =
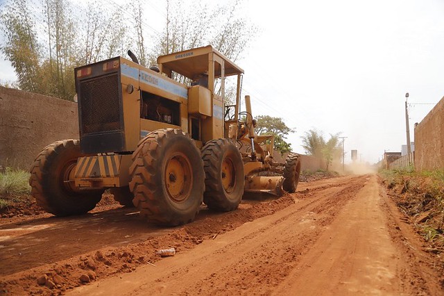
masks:
[[[245,181],[244,192],[267,193],[281,197],[283,176],[248,176]]]

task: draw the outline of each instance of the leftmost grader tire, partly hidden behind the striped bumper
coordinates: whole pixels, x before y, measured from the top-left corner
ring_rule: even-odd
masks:
[[[57,215],[80,215],[92,210],[104,190],[78,191],[69,182],[80,153],[78,140],[62,140],[46,146],[31,167],[31,195],[44,211]]]

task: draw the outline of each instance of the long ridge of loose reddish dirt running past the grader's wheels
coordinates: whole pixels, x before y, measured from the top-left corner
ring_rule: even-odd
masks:
[[[196,222],[177,227],[173,231],[144,242],[125,247],[105,247],[57,263],[6,275],[0,281],[0,294],[58,295],[65,290],[111,274],[133,272],[139,265],[152,265],[159,261],[161,257],[156,252],[160,249],[174,247],[176,252],[180,253],[193,248],[203,240],[214,239],[219,234],[235,229],[245,222],[271,215],[293,203],[293,198],[286,195],[280,199],[269,199],[256,204],[254,202],[241,204],[238,211],[223,215],[214,215],[203,208]],[[66,235],[76,234],[74,232]],[[6,271],[1,272],[0,268],[0,274],[5,273]]]

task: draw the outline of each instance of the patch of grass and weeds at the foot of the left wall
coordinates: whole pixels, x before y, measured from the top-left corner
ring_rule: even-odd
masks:
[[[31,192],[28,180],[29,173],[24,170],[0,167],[0,211],[28,198]]]

